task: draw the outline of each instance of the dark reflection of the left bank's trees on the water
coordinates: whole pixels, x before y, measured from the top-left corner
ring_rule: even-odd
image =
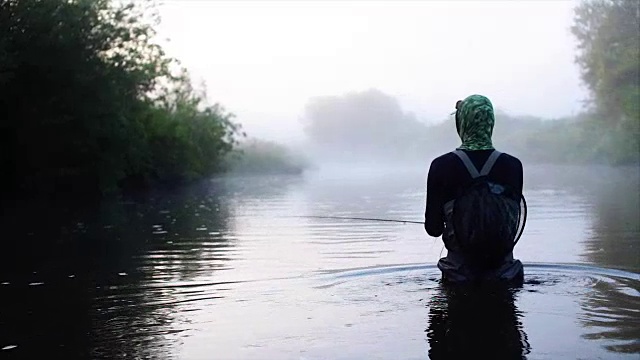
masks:
[[[21,358],[164,358],[183,330],[172,307],[230,287],[192,281],[230,269],[225,193],[194,186],[84,213],[15,209],[31,216],[3,223],[13,237],[0,265],[3,345]]]

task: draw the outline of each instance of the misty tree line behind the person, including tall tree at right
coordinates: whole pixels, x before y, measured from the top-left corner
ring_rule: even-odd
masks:
[[[584,1],[572,32],[586,111],[543,120],[496,110],[494,144],[532,162],[640,162],[640,2]],[[334,159],[424,161],[459,145],[453,117],[428,126],[375,89],[312,99],[303,120],[316,152]]]

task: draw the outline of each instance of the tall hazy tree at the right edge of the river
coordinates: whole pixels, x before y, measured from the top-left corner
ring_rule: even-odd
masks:
[[[594,144],[614,163],[640,152],[640,2],[588,0],[575,9],[577,63],[591,90],[591,120],[602,127]]]

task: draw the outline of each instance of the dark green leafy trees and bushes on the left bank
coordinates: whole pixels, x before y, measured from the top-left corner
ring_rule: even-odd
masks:
[[[99,194],[219,170],[238,127],[172,75],[149,5],[0,0],[5,191]]]

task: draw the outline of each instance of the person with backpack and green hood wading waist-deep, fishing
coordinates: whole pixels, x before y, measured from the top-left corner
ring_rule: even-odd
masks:
[[[425,230],[447,248],[438,268],[446,282],[521,282],[513,246],[524,225],[522,163],[494,149],[493,105],[485,96],[458,101],[455,121],[462,144],[434,159],[427,177]]]

